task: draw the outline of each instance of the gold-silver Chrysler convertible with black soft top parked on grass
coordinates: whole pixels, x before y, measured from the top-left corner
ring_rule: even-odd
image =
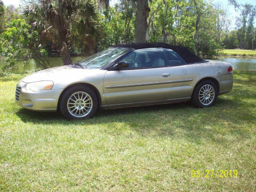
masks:
[[[210,107],[231,91],[230,63],[203,60],[165,43],[116,45],[69,66],[37,71],[18,82],[15,100],[70,119],[112,109],[191,100]]]

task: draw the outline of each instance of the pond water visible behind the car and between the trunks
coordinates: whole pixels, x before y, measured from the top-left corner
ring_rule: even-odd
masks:
[[[78,60],[85,59],[86,57],[73,57],[73,62],[76,62]],[[61,58],[48,58],[52,67],[61,66]],[[253,69],[256,70],[256,58],[242,58],[242,57],[217,57],[217,58],[209,58],[212,60],[219,60],[219,61],[225,61],[232,64],[233,69]],[[0,67],[3,65],[5,60],[0,60]],[[28,70],[34,70],[36,69],[36,63],[33,59],[30,59],[28,61],[20,61],[17,63],[17,66],[11,69],[6,69],[5,72],[9,73],[22,73],[24,71]]]

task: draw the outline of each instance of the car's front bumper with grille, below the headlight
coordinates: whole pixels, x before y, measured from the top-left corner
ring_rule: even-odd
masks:
[[[26,90],[26,83],[22,81],[17,84],[16,90],[15,101],[17,104],[25,109],[35,111],[56,111],[62,92],[62,89],[37,92]]]

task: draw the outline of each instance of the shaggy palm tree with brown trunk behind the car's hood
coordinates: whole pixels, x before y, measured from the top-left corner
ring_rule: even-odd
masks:
[[[31,1],[24,14],[41,31],[42,39],[50,37],[58,45],[63,65],[72,63],[69,49],[71,43],[77,42],[75,37],[86,36],[86,40],[92,42],[99,27],[98,14],[91,0]]]

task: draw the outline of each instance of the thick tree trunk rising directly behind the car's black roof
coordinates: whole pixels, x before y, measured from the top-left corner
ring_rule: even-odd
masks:
[[[136,25],[135,25],[135,38],[137,43],[146,42],[147,34],[147,19],[150,9],[148,7],[148,0],[137,0],[137,10],[136,10]]]

